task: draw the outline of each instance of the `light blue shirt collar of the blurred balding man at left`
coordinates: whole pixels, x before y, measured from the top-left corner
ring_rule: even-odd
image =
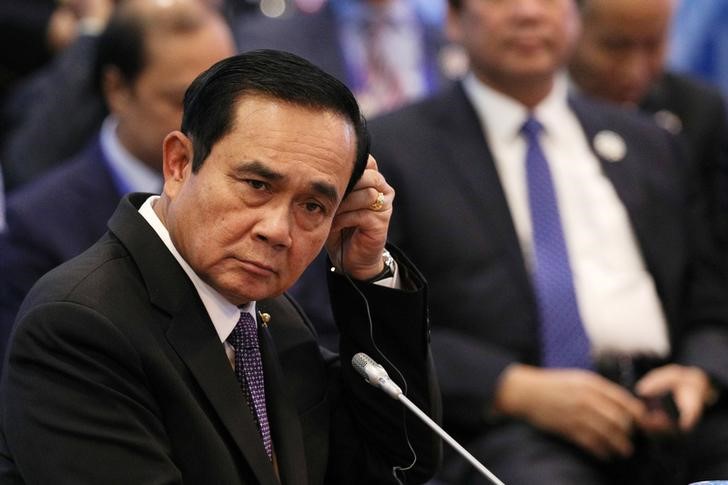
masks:
[[[121,144],[116,129],[118,120],[109,115],[101,125],[100,143],[109,168],[118,182],[119,191],[151,192],[157,194],[162,187],[162,176],[148,165],[134,157]]]

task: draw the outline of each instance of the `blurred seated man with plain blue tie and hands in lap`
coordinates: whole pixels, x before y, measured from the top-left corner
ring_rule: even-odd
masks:
[[[572,0],[449,19],[471,74],[371,123],[391,238],[430,285],[445,424],[513,485],[728,476],[725,274],[676,141],[569,99]]]

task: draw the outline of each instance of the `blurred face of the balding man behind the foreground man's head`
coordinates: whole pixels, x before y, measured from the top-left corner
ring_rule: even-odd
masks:
[[[182,122],[187,86],[215,62],[235,53],[222,21],[209,22],[189,33],[145,36],[146,66],[131,85],[121,88],[112,108],[119,119],[118,135],[138,159],[161,171],[162,140]]]

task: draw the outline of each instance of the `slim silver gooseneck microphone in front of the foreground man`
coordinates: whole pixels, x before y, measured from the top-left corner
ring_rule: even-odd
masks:
[[[437,423],[435,423],[430,417],[425,414],[420,408],[410,401],[407,396],[402,393],[402,389],[389,378],[387,370],[381,365],[377,364],[374,359],[369,357],[364,352],[359,352],[351,359],[351,365],[354,369],[364,378],[368,384],[374,387],[378,387],[392,399],[401,401],[410,411],[412,411],[417,417],[419,417],[425,424],[427,424],[433,431],[440,435],[455,451],[460,453],[471,465],[475,467],[485,478],[495,485],[505,485],[498,477],[493,475],[490,470],[485,468],[468,450],[463,448],[460,443],[447,434]]]

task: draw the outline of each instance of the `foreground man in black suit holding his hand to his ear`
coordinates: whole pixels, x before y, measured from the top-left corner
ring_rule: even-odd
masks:
[[[381,358],[437,417],[424,280],[386,257],[394,191],[367,140],[353,95],[293,55],[197,78],[163,143],[162,195],[124,198],[24,302],[0,481],[426,481],[438,440],[349,364]],[[341,363],[281,296],[324,243]]]

